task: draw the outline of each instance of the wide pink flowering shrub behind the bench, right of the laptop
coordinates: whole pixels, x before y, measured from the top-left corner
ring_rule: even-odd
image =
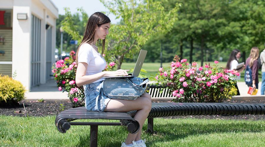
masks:
[[[218,61],[214,61],[213,66],[206,64],[204,67],[198,67],[196,62],[189,65],[187,59],[179,61],[178,56],[174,61],[169,70],[160,68],[155,78],[172,92],[176,101],[221,102],[236,94],[234,85],[239,73],[218,67]]]

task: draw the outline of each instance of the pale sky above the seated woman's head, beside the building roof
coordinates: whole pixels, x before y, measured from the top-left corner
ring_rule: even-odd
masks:
[[[108,9],[99,0],[51,0],[58,8],[59,14],[64,15],[64,7],[69,7],[71,14],[77,13],[77,8],[82,7],[88,14],[92,15],[94,12],[108,12]],[[115,15],[106,13],[110,18],[112,24],[117,24],[119,19],[115,19]]]

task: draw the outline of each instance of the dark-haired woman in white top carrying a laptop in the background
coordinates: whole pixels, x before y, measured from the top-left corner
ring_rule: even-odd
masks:
[[[226,69],[229,69],[229,70],[234,70],[234,72],[239,72],[241,73],[245,68],[241,68],[239,70],[236,70],[236,66],[238,66],[238,60],[239,58],[241,57],[241,53],[238,49],[234,49],[231,54],[230,54],[230,57],[227,61],[227,64],[226,64]],[[239,80],[240,79],[240,75],[237,77],[237,79]],[[236,89],[237,89],[237,95],[240,95],[239,93],[239,90],[238,90],[238,87],[237,87],[237,84],[235,85]]]

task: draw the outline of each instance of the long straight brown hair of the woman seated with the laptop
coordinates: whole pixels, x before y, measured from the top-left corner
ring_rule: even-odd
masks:
[[[94,14],[92,14],[89,19],[87,20],[87,26],[86,26],[86,30],[84,33],[84,37],[82,39],[81,44],[79,45],[77,52],[76,52],[76,64],[78,64],[78,52],[79,52],[79,48],[82,44],[88,43],[88,44],[92,44],[92,42],[95,39],[95,30],[96,27],[101,26],[102,24],[107,24],[110,23],[110,18],[108,16],[106,16],[105,14],[101,13],[101,12],[95,12]],[[103,55],[104,50],[105,50],[105,39],[97,41],[97,45],[101,48],[101,55]],[[100,42],[100,43],[99,43]]]

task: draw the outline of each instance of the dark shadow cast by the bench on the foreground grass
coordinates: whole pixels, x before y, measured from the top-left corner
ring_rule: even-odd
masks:
[[[205,135],[212,133],[238,133],[238,132],[262,132],[260,130],[262,124],[248,122],[229,122],[229,123],[167,123],[167,124],[154,124],[154,131],[156,134],[147,134],[147,126],[143,127],[143,138],[147,139],[147,146],[154,146],[155,143],[164,141],[177,141],[188,136]],[[120,132],[120,133],[117,133]],[[125,140],[122,136],[127,135],[122,127],[115,128],[114,130],[98,130],[98,146],[120,146],[121,141]],[[119,135],[123,134],[123,135]],[[125,135],[126,134],[126,135]],[[107,138],[105,138],[107,136]],[[90,133],[85,136],[80,136],[80,141],[75,146],[90,146]],[[108,139],[109,138],[109,139]],[[110,141],[110,138],[113,139]],[[102,143],[104,141],[104,143]]]

